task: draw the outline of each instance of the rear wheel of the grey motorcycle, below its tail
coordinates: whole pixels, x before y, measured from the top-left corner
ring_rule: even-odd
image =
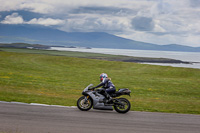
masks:
[[[114,108],[118,113],[127,113],[130,110],[131,104],[126,98],[119,98],[117,101],[119,104],[115,104]]]

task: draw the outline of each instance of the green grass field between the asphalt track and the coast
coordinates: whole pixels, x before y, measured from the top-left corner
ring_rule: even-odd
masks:
[[[0,101],[74,106],[105,72],[117,88],[132,90],[131,110],[200,114],[200,69],[34,52],[0,51]]]

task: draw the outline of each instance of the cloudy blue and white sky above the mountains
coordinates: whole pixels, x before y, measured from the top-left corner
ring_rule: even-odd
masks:
[[[200,47],[200,0],[0,0],[0,23]]]

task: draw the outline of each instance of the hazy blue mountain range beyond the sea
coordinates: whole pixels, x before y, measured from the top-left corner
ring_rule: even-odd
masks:
[[[0,24],[0,43],[31,43],[92,48],[200,52],[200,47],[156,45],[125,39],[105,32],[64,32],[36,25]]]

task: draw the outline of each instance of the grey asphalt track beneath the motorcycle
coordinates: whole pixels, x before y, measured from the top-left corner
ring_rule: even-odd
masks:
[[[200,133],[200,115],[0,102],[0,133]]]

